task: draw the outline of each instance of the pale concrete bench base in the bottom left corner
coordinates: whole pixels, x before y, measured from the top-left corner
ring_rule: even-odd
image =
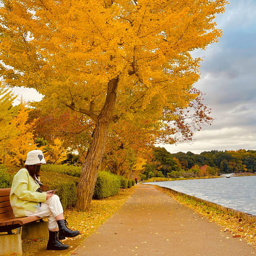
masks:
[[[12,253],[22,256],[21,234],[0,235],[0,252],[2,256]]]

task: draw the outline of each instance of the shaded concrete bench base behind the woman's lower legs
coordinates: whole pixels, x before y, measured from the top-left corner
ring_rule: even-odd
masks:
[[[22,226],[21,239],[47,238],[48,222],[34,222],[29,225]]]

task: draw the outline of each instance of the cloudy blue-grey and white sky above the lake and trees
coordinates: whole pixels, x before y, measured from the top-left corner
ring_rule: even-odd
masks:
[[[230,0],[216,22],[223,30],[220,42],[194,53],[204,57],[195,87],[206,93],[215,120],[196,132],[193,144],[161,145],[169,152],[256,150],[256,0]],[[41,99],[32,89],[15,92]]]

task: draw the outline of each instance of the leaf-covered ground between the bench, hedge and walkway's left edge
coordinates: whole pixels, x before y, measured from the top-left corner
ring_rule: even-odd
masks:
[[[46,250],[47,239],[22,240],[23,256],[68,256],[82,242],[90,236],[102,223],[104,223],[114,212],[116,212],[134,193],[135,187],[120,189],[119,193],[110,198],[102,200],[92,200],[90,210],[77,212],[75,210],[65,210],[64,216],[68,216],[68,227],[72,230],[79,230],[80,235],[75,238],[66,238],[62,243],[68,244],[69,248],[63,251]]]

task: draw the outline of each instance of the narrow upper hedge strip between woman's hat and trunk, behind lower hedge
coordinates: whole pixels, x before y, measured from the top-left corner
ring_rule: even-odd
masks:
[[[41,166],[41,170],[44,172],[53,172],[60,174],[67,174],[69,176],[80,177],[81,174],[81,166],[73,166],[73,165],[57,165],[57,164],[44,164]]]

